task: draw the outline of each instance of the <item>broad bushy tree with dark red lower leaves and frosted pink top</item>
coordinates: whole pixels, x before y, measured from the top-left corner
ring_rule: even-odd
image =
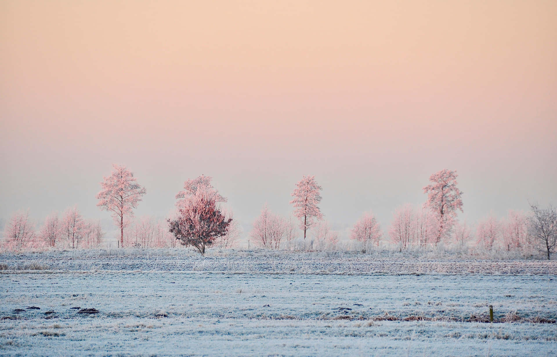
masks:
[[[183,245],[192,245],[203,255],[218,237],[227,234],[232,219],[222,214],[218,202],[226,201],[211,185],[211,177],[199,176],[184,182],[178,192],[177,219],[168,220],[169,231]]]

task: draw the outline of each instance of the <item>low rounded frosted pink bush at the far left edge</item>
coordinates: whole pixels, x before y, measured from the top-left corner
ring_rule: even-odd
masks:
[[[6,246],[11,250],[25,250],[36,245],[35,226],[29,219],[29,211],[17,211],[4,227]]]

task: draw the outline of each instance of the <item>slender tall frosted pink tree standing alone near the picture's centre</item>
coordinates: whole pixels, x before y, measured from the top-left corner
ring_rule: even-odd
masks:
[[[319,191],[323,190],[315,182],[315,176],[304,176],[296,184],[296,189],[291,196],[294,200],[290,204],[294,205],[294,215],[300,219],[300,229],[306,232],[315,224],[315,220],[323,219],[323,214],[317,205],[321,202]]]

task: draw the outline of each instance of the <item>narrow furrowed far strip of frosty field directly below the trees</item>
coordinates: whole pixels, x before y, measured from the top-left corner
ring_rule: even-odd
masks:
[[[113,254],[114,253],[114,254]],[[557,261],[425,259],[397,252],[289,252],[189,249],[51,251],[3,254],[7,270],[213,271],[267,274],[534,274],[557,275]],[[31,266],[31,267],[30,267]]]

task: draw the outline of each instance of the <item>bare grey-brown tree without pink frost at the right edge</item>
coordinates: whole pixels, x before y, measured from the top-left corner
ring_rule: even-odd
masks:
[[[549,260],[550,254],[554,253],[557,247],[557,211],[551,205],[541,209],[537,204],[531,204],[530,209],[530,235],[540,245],[541,250],[546,252]]]

